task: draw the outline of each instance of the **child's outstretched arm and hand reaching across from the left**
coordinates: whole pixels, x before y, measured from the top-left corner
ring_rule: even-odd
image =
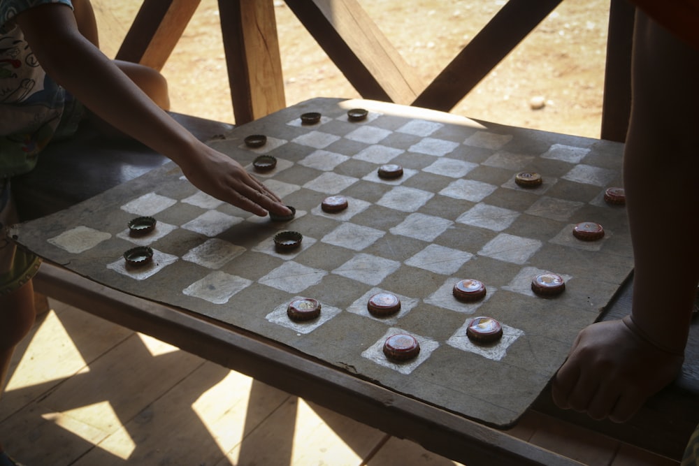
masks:
[[[78,31],[71,8],[38,6],[15,18],[46,73],[89,110],[177,163],[196,187],[254,214],[289,214],[280,199],[229,156],[201,143],[155,105]]]

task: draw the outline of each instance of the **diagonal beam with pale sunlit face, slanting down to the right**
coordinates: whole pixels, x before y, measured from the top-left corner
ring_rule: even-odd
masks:
[[[365,99],[409,104],[424,87],[356,0],[286,0]]]

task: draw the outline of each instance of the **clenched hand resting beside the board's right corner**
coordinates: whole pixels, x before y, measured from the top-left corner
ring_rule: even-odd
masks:
[[[628,421],[677,377],[683,360],[647,342],[624,321],[593,323],[579,333],[554,377],[554,402],[591,418]]]

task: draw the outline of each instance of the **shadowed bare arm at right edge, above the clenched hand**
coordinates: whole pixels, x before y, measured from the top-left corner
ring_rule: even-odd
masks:
[[[699,52],[637,22],[624,187],[635,256],[633,321],[682,351],[699,279]],[[672,46],[668,46],[672,45]],[[668,52],[671,50],[672,52]]]

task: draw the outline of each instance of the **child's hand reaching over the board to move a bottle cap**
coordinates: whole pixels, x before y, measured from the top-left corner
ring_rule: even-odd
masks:
[[[240,163],[211,147],[197,147],[196,156],[182,159],[180,168],[189,182],[221,201],[260,217],[264,217],[268,211],[280,215],[291,214],[281,199],[247,173]]]

